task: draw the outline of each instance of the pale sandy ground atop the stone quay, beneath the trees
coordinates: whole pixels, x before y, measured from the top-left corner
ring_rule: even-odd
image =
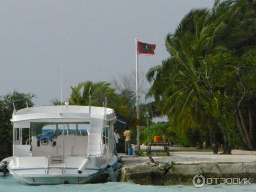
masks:
[[[142,151],[145,151],[146,146],[141,146]],[[195,148],[182,148],[182,147],[170,147],[170,157],[155,156],[154,150],[163,149],[160,146],[152,147],[151,157],[154,161],[159,162],[175,162],[182,164],[191,163],[248,163],[256,162],[256,151],[241,151],[232,150],[232,154],[213,154],[209,150],[196,150]],[[219,151],[220,153],[221,151]],[[160,154],[158,154],[160,155]],[[162,154],[163,155],[163,154]],[[120,154],[124,162],[123,166],[134,165],[137,163],[144,163],[148,161],[148,157],[137,157]]]

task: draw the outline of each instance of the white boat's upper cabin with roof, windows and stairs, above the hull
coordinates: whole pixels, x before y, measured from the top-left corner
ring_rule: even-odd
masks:
[[[14,111],[13,157],[104,154],[113,140],[114,111],[88,106],[44,106]]]

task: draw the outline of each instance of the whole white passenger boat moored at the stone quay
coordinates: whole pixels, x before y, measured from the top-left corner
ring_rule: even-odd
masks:
[[[11,121],[9,172],[20,182],[95,183],[116,169],[116,116],[110,108],[67,104],[16,111],[14,107]]]

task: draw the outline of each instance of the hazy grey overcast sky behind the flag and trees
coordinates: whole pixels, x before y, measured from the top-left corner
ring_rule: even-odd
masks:
[[[0,95],[34,93],[36,106],[63,100],[70,86],[135,70],[135,38],[156,44],[139,72],[169,57],[165,38],[191,9],[214,0],[1,0]]]

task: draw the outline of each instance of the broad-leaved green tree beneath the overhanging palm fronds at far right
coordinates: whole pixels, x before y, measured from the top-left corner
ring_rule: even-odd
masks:
[[[256,129],[253,119],[256,81],[256,49],[245,52],[241,57],[230,52],[207,55],[201,64],[201,71],[210,75],[205,81],[215,90],[215,95],[206,104],[206,111],[218,119],[223,132],[224,145],[241,145],[243,140],[250,150],[255,150]],[[245,123],[248,122],[248,123]],[[226,147],[227,150],[228,147]],[[228,151],[224,150],[224,153]]]

